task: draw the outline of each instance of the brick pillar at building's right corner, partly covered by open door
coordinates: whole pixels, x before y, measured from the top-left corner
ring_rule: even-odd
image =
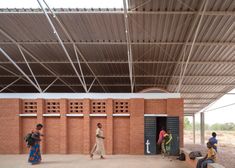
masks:
[[[179,117],[180,147],[184,146],[184,99],[167,99],[167,115]]]

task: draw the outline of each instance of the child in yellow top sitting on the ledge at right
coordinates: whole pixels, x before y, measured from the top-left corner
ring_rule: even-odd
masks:
[[[198,160],[196,168],[207,168],[208,163],[215,162],[216,151],[213,148],[213,145],[211,144],[211,142],[207,142],[207,148],[208,148],[207,155],[204,158]]]

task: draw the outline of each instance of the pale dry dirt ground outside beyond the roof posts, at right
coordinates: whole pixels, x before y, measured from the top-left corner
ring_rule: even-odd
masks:
[[[211,136],[211,131],[205,132],[205,139],[208,141]],[[189,150],[199,150],[206,154],[206,146],[199,144],[192,144],[193,142],[193,133],[192,131],[184,132],[184,143],[185,148]],[[217,162],[226,168],[235,168],[235,131],[217,131],[218,139],[218,153],[217,153]],[[205,142],[206,142],[205,141]],[[200,143],[200,133],[196,132],[196,143]]]

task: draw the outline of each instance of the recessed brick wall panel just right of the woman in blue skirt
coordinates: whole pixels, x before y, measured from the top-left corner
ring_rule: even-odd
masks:
[[[45,151],[46,153],[60,153],[60,118],[47,117],[45,119]]]

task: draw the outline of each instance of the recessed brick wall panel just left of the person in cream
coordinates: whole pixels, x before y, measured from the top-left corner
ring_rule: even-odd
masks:
[[[68,118],[68,153],[83,153],[83,118]]]

